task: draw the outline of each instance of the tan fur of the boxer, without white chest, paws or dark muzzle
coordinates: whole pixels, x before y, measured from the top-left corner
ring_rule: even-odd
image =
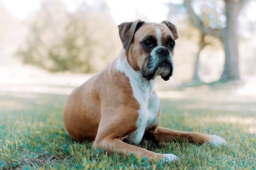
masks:
[[[120,60],[127,57],[133,70],[140,70],[145,64],[148,54],[141,50],[140,41],[147,34],[156,36],[155,26],[158,26],[162,32],[162,42],[167,34],[173,37],[171,32],[173,28],[168,28],[166,24],[144,23],[135,32],[128,47],[129,50],[123,49],[119,55]],[[140,104],[133,96],[129,78],[124,72],[116,69],[117,60],[118,58],[70,94],[63,109],[63,121],[67,132],[76,141],[95,140],[93,148],[101,148],[110,152],[133,153],[147,157],[149,160],[161,159],[163,158],[161,153],[151,152],[123,142],[127,135],[137,129],[136,122]],[[158,123],[160,111],[159,108]],[[175,139],[188,139],[189,142],[202,144],[211,140],[208,135],[162,128],[158,127],[158,123],[147,131],[147,134],[155,137],[157,141],[170,142]]]

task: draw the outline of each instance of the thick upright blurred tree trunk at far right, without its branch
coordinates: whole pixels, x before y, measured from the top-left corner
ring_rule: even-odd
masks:
[[[237,16],[239,4],[237,1],[226,0],[227,26],[221,32],[221,42],[225,51],[224,70],[220,81],[239,80],[239,58],[237,43]]]

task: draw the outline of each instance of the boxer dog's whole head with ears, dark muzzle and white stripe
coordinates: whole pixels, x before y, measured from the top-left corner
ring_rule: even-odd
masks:
[[[131,67],[150,80],[158,75],[166,81],[172,76],[176,27],[169,21],[160,24],[137,20],[118,26],[119,35]]]

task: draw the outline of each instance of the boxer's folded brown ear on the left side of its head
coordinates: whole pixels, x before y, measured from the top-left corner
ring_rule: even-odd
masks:
[[[134,22],[123,22],[118,26],[119,36],[123,43],[125,51],[128,51],[132,43],[135,32],[144,24],[140,19]]]

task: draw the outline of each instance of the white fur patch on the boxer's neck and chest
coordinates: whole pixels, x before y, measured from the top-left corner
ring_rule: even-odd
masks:
[[[157,112],[160,108],[160,101],[157,95],[153,94],[156,78],[147,81],[142,77],[141,71],[132,69],[126,57],[124,61],[118,57],[116,69],[124,72],[129,78],[133,96],[140,104],[139,118],[136,122],[137,129],[126,137],[128,143],[139,144],[145,130],[158,123]]]

